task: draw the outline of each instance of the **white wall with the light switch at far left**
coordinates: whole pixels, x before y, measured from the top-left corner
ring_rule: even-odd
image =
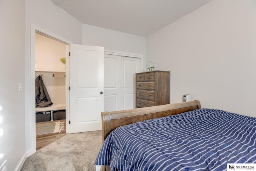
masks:
[[[0,0],[0,165],[15,171],[26,152],[24,81],[25,1]]]

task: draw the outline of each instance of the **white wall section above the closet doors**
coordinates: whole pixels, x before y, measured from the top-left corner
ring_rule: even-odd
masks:
[[[104,50],[142,54],[146,59],[146,38],[83,24],[83,45],[103,46]],[[146,68],[146,64],[143,70]]]

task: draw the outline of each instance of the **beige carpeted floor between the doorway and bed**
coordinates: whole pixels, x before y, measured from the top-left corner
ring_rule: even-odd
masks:
[[[102,131],[67,134],[30,155],[20,171],[95,171]]]

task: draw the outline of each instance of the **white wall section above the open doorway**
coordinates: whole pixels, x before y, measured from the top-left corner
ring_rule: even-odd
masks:
[[[72,41],[82,43],[82,23],[51,0],[26,0],[26,33],[30,23]]]

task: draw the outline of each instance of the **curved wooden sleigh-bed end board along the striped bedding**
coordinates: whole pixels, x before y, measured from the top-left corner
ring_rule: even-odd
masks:
[[[128,125],[138,121],[144,121],[157,117],[176,115],[200,108],[200,102],[198,100],[194,100],[182,103],[173,103],[120,111],[104,111],[101,113],[102,139],[104,141],[111,131],[123,125]]]

